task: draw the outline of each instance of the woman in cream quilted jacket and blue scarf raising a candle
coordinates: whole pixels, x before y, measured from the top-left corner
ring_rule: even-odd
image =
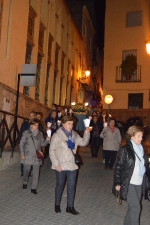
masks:
[[[62,127],[53,135],[50,144],[50,159],[52,169],[56,171],[55,212],[60,213],[60,202],[65,181],[67,181],[67,208],[66,212],[79,214],[74,208],[74,196],[78,166],[75,164],[73,153],[77,146],[85,146],[89,142],[90,132],[86,128],[81,138],[73,128],[73,118],[66,115],[62,118]]]

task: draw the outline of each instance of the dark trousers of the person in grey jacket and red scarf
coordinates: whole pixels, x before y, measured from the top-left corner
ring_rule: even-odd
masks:
[[[117,151],[104,150],[105,154],[105,166],[112,168],[114,166]]]

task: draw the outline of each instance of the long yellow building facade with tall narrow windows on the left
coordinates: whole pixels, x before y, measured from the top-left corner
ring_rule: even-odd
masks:
[[[0,0],[1,109],[7,99],[14,112],[23,64],[37,65],[36,85],[20,86],[19,115],[41,108],[46,115],[53,103],[77,102],[77,80],[85,76],[86,69],[92,71],[95,32],[86,6],[82,17],[83,33],[65,0]],[[92,89],[90,77],[86,83]]]

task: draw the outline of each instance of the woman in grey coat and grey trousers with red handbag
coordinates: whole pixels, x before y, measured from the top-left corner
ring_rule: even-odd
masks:
[[[43,138],[42,132],[38,127],[40,120],[33,119],[30,121],[30,128],[24,131],[20,141],[21,161],[24,164],[23,171],[23,189],[27,189],[28,177],[31,166],[33,166],[33,180],[31,193],[37,194],[37,185],[39,179],[39,168],[42,165],[42,160],[37,158],[37,151],[41,152],[41,147],[46,146],[50,140],[49,137],[46,140]]]

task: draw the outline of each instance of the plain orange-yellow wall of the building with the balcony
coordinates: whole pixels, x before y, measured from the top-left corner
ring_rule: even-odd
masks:
[[[104,46],[104,96],[111,94],[112,109],[128,108],[128,93],[143,93],[143,108],[150,107],[150,57],[145,41],[149,38],[149,0],[106,1],[105,46]],[[142,26],[126,27],[126,13],[143,11]],[[137,49],[137,64],[141,65],[140,83],[116,83],[116,66],[122,63],[122,51]],[[107,105],[104,103],[104,108]]]

